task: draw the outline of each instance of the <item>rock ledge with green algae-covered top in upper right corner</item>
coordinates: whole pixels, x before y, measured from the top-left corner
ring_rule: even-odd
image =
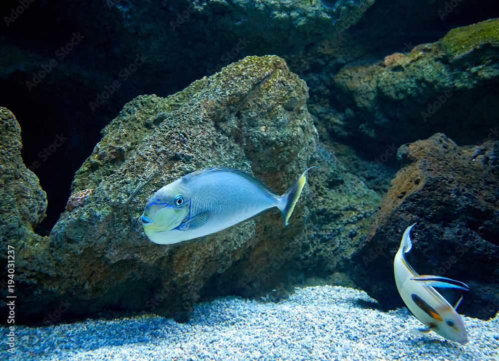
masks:
[[[490,19],[380,61],[345,65],[333,79],[333,111],[320,114],[324,126],[334,139],[362,139],[374,155],[437,131],[458,144],[482,141],[499,118],[491,106],[499,101],[498,26]]]

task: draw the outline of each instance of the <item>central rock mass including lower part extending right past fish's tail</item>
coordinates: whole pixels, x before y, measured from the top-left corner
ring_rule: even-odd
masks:
[[[207,295],[254,296],[299,264],[299,256],[330,257],[333,235],[347,242],[329,249],[351,253],[367,229],[355,222],[372,213],[378,197],[342,175],[326,148],[318,149],[307,96],[304,81],[282,59],[263,56],[231,64],[168,98],[139,96],[126,104],[75,174],[72,194],[84,194],[82,202],[61,214],[45,242],[15,245],[17,321],[53,322],[54,313],[59,321],[105,308],[185,319],[203,287]],[[147,200],[192,171],[239,168],[283,193],[314,164],[320,172],[309,172],[310,186],[287,227],[278,211],[268,211],[175,245],[157,245],[143,233],[139,219]],[[317,230],[324,236],[315,242],[324,250],[314,252]],[[303,259],[302,266],[314,263]]]

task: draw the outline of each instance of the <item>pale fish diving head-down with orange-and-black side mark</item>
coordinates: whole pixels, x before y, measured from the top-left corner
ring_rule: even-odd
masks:
[[[412,248],[410,232],[415,224],[405,230],[393,263],[395,283],[402,300],[412,314],[426,326],[425,329],[413,330],[413,334],[425,335],[433,331],[447,340],[464,345],[468,343],[468,336],[463,320],[456,312],[463,297],[456,305],[451,306],[434,287],[467,291],[470,289],[464,283],[446,277],[420,276],[407,263],[404,254]]]

